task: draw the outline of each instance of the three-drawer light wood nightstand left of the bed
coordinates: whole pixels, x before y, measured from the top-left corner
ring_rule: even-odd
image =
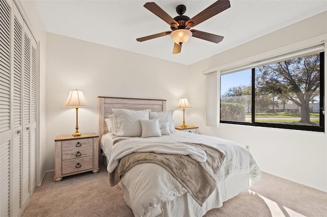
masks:
[[[55,181],[64,176],[99,171],[99,135],[58,135],[55,139]]]

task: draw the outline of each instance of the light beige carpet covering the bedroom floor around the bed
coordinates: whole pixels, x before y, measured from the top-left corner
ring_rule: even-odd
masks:
[[[92,172],[53,180],[45,174],[22,216],[133,216],[118,185],[110,187],[103,164]],[[327,193],[267,173],[249,191],[209,210],[213,216],[327,216]]]

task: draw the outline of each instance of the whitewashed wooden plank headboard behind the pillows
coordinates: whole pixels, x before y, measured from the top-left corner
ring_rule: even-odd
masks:
[[[124,108],[128,110],[146,110],[152,112],[166,111],[165,99],[134,99],[134,98],[117,98],[117,97],[98,97],[98,134],[99,150],[101,148],[101,138],[103,134],[108,133],[107,125],[104,121],[112,114],[111,108]]]

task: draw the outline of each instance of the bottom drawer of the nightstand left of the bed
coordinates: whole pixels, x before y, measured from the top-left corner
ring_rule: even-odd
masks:
[[[68,173],[76,173],[83,170],[93,168],[93,157],[83,157],[62,161],[62,175]]]

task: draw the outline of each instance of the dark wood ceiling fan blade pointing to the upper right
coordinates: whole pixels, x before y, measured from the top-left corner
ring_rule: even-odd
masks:
[[[229,0],[219,0],[186,22],[190,28],[230,8]],[[190,23],[190,24],[189,24]]]

